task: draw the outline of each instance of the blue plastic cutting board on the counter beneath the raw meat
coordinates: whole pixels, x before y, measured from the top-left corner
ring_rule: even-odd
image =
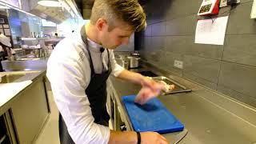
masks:
[[[153,98],[145,105],[134,103],[135,95],[122,97],[122,102],[135,131],[154,131],[159,134],[182,131],[184,126],[158,100]]]

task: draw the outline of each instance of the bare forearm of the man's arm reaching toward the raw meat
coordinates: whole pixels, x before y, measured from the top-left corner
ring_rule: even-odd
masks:
[[[118,75],[118,78],[140,84],[144,76],[142,76],[142,74],[134,73],[129,70],[122,70],[121,74]]]

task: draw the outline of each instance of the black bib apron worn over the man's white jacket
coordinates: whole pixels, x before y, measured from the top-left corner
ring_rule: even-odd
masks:
[[[86,50],[89,54],[91,71],[90,83],[86,88],[85,92],[90,102],[90,108],[94,116],[94,122],[103,126],[108,126],[110,115],[106,111],[106,80],[112,70],[110,65],[110,54],[109,50],[106,49],[108,54],[108,70],[102,72],[102,74],[95,74],[94,65],[90,56],[89,45],[87,42],[86,30],[84,29],[84,27],[85,26],[82,26],[81,36],[82,41],[86,44]],[[102,68],[104,70],[104,66]],[[58,127],[61,144],[74,144],[74,141],[68,133],[66,124],[61,114],[59,114]]]

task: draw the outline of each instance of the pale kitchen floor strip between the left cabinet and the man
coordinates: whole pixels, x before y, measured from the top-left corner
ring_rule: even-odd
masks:
[[[50,104],[50,118],[43,128],[38,138],[35,140],[34,144],[59,144],[58,138],[58,109],[54,103],[54,97],[51,90],[47,91],[49,104]],[[113,130],[113,126],[110,123],[110,129]]]

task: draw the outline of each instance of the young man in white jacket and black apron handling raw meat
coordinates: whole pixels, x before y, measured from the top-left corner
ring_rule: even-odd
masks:
[[[113,50],[128,44],[130,34],[145,26],[146,14],[138,0],[95,0],[90,23],[82,26],[80,34],[58,43],[48,61],[47,77],[60,111],[62,144],[167,143],[154,132],[117,132],[108,127],[106,79],[110,74],[150,88],[147,97],[162,90],[160,84],[124,70],[114,60]]]

